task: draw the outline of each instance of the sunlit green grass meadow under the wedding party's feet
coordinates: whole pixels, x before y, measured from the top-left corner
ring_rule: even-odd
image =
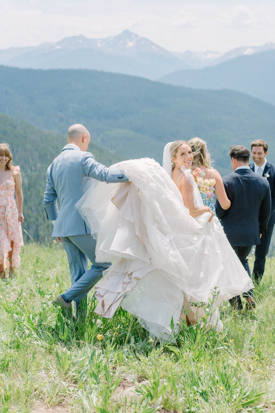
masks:
[[[268,259],[255,310],[226,303],[223,334],[182,325],[161,346],[121,309],[94,317],[92,294],[87,320],[68,320],[51,304],[70,285],[63,247],[26,245],[0,282],[0,413],[275,411],[274,281]]]

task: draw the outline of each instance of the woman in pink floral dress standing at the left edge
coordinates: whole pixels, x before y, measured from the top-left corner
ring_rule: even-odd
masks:
[[[14,199],[16,193],[16,201]],[[14,275],[20,266],[23,245],[21,223],[23,216],[23,192],[20,167],[12,164],[12,154],[7,143],[0,144],[0,277]]]

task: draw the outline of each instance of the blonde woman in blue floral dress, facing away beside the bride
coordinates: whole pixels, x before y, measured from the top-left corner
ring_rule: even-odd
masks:
[[[192,138],[189,140],[189,145],[193,152],[193,176],[199,187],[202,201],[204,205],[210,207],[216,215],[215,195],[223,209],[230,207],[230,201],[226,195],[223,180],[219,172],[211,166],[211,159],[205,140]]]

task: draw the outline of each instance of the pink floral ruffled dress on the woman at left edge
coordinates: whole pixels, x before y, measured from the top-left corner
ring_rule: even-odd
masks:
[[[14,198],[16,176],[20,166],[14,166],[12,176],[0,185],[0,264],[7,263],[7,254],[12,250],[12,266],[20,266],[20,252],[23,245],[21,222],[18,221],[18,209]]]

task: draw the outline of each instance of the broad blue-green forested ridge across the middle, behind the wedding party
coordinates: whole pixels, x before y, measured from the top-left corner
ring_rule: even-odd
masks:
[[[230,90],[192,90],[143,78],[89,70],[0,66],[0,111],[43,129],[66,133],[76,122],[120,159],[162,161],[165,144],[204,138],[215,166],[230,171],[231,145],[256,138],[275,161],[275,107]]]

